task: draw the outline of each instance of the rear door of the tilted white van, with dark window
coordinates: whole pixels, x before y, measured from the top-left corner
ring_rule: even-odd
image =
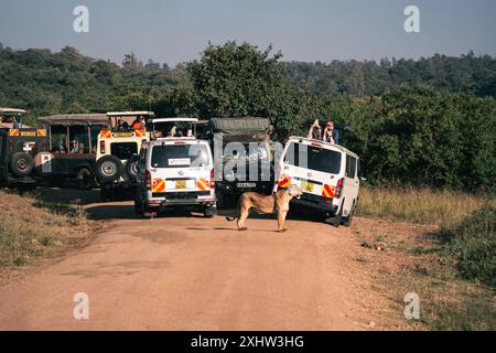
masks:
[[[290,141],[282,160],[278,185],[287,188],[295,184],[304,193],[333,197],[341,165],[339,151],[323,148],[322,143]]]

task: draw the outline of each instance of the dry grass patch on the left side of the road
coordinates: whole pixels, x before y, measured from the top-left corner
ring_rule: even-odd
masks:
[[[98,225],[79,205],[45,203],[0,191],[0,268],[15,268],[63,254]]]

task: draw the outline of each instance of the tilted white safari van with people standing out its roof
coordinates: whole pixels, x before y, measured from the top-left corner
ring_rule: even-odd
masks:
[[[276,170],[273,191],[296,184],[303,194],[292,203],[324,212],[326,222],[335,226],[349,225],[358,202],[359,174],[359,158],[346,148],[291,137]]]

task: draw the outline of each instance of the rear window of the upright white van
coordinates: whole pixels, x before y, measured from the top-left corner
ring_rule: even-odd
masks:
[[[205,145],[165,145],[152,150],[152,168],[207,167],[208,150]]]

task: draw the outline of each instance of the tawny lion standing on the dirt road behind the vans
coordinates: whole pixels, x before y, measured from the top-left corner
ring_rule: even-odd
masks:
[[[281,189],[271,195],[262,195],[257,192],[245,192],[239,196],[238,214],[234,217],[227,216],[226,220],[231,222],[237,220],[238,231],[248,229],[245,226],[245,221],[251,208],[257,213],[278,213],[278,232],[282,233],[284,228],[285,216],[289,211],[289,203],[291,199],[300,199],[302,191],[296,185],[290,185],[288,189]]]

